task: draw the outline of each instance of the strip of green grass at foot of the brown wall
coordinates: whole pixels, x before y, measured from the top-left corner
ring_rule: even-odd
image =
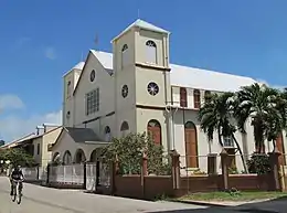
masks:
[[[287,192],[204,192],[191,193],[179,200],[191,201],[254,201],[287,196]]]

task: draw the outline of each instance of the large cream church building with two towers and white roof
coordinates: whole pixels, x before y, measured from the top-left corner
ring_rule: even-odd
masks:
[[[204,96],[235,92],[255,81],[170,64],[169,40],[168,31],[137,20],[111,41],[113,53],[91,50],[85,62],[66,73],[63,77],[66,128],[52,146],[53,153],[68,162],[88,160],[93,150],[108,143],[111,137],[149,131],[166,151],[176,149],[182,156],[183,167],[205,171],[206,156],[220,153],[222,147],[216,135],[209,142],[200,129],[198,111]],[[76,136],[85,135],[85,129],[92,129],[94,136],[91,131],[89,138]],[[247,134],[236,132],[236,138],[245,155],[255,150],[249,124]],[[224,146],[234,145],[226,138]],[[266,147],[272,149],[267,143]],[[240,157],[236,167],[243,170]]]

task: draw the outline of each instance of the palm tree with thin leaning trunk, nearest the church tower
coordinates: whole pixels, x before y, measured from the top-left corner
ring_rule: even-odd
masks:
[[[247,172],[243,152],[234,136],[237,128],[234,125],[233,102],[234,93],[211,94],[200,108],[199,120],[201,129],[208,135],[209,142],[213,140],[214,131],[217,131],[219,142],[222,147],[222,137],[232,137],[240,151],[244,170]]]

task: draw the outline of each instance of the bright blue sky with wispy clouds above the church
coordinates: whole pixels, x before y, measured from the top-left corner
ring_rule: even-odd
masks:
[[[172,63],[286,85],[286,0],[0,0],[0,137],[57,119],[62,75],[89,49],[110,52],[138,11],[172,33]]]

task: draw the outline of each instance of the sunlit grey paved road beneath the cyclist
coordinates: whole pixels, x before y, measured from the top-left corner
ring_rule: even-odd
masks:
[[[79,191],[56,190],[33,184],[24,184],[23,194],[20,205],[13,203],[9,196],[8,179],[0,177],[0,213],[231,213],[223,209],[84,194]]]

